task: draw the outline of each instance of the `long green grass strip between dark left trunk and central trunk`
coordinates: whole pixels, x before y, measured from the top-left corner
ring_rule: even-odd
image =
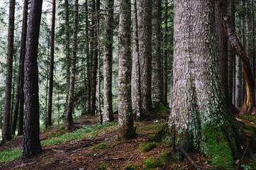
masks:
[[[74,132],[67,132],[63,135],[52,137],[41,142],[42,147],[51,145],[60,145],[66,142],[76,142],[84,138],[95,137],[96,135],[103,135],[108,131],[118,130],[117,123],[105,123],[104,125],[96,124],[94,126],[84,126],[82,129],[77,129]]]

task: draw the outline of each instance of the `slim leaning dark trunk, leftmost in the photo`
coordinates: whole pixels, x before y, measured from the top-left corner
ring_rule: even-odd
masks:
[[[11,113],[11,81],[13,72],[13,39],[14,39],[14,13],[15,13],[15,0],[10,0],[9,7],[9,31],[8,31],[8,54],[7,54],[7,70],[6,70],[6,92],[4,101],[4,124],[2,142],[11,140],[11,126],[10,126],[10,113]]]

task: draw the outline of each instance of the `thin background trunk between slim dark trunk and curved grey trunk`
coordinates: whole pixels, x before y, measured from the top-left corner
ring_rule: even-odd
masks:
[[[65,0],[65,52],[66,52],[66,111],[69,98],[70,58],[69,58],[69,0]]]

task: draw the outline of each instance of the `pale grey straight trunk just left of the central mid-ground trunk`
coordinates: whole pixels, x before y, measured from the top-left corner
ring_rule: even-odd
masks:
[[[113,0],[105,1],[104,21],[104,111],[103,123],[113,121],[112,61],[113,61]]]

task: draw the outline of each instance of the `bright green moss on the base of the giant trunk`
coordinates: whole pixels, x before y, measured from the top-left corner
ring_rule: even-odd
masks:
[[[211,159],[214,169],[233,169],[232,152],[226,135],[220,127],[208,126],[202,130],[204,152]]]

